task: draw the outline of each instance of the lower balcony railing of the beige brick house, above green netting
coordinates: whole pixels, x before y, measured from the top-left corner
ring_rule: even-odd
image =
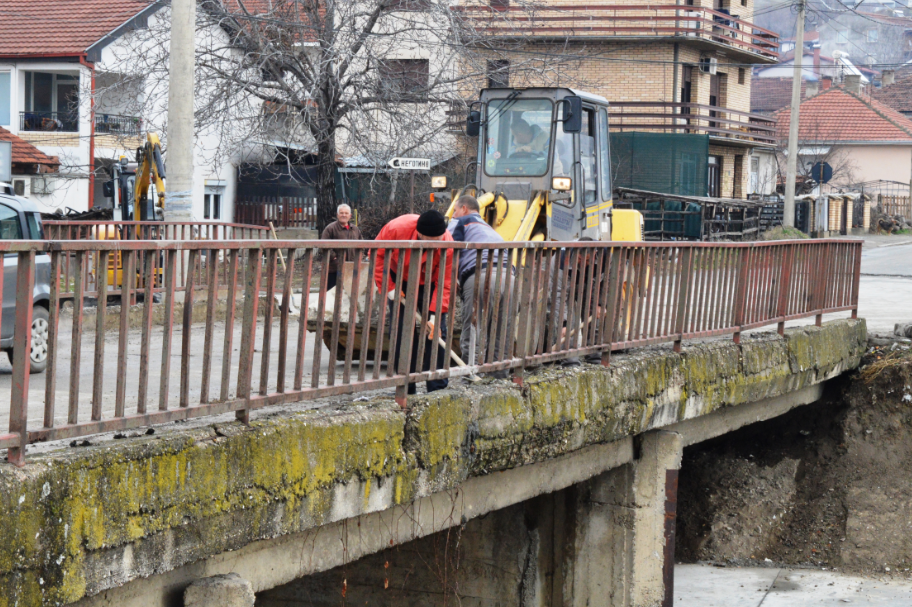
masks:
[[[614,132],[696,133],[754,145],[772,146],[777,143],[775,120],[713,105],[616,102],[611,104],[608,116]]]

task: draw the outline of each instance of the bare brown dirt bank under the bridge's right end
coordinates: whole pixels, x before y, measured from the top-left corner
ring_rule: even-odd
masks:
[[[910,528],[908,345],[871,349],[817,403],[684,452],[679,561],[903,573]]]

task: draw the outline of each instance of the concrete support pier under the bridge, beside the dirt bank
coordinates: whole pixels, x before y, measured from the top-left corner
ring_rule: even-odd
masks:
[[[562,572],[564,607],[671,606],[682,450],[681,435],[649,432],[634,462],[578,491],[565,535],[572,548]]]

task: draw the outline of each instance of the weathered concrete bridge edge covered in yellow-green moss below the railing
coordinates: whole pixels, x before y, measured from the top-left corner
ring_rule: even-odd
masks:
[[[456,488],[469,476],[776,396],[854,368],[863,321],[546,369],[362,407],[274,416],[0,466],[0,607],[140,576]],[[129,553],[129,558],[128,558]]]

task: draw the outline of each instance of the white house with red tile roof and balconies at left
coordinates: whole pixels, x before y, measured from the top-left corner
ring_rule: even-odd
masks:
[[[0,126],[60,161],[58,173],[31,181],[28,196],[48,212],[104,204],[106,168],[122,155],[133,161],[147,131],[165,138],[167,56],[155,55],[164,69],[149,70],[154,52],[137,41],[148,28],[167,31],[170,11],[139,0],[4,0],[3,8]],[[247,151],[227,151],[211,131],[197,134],[196,219],[233,219],[236,166]]]

